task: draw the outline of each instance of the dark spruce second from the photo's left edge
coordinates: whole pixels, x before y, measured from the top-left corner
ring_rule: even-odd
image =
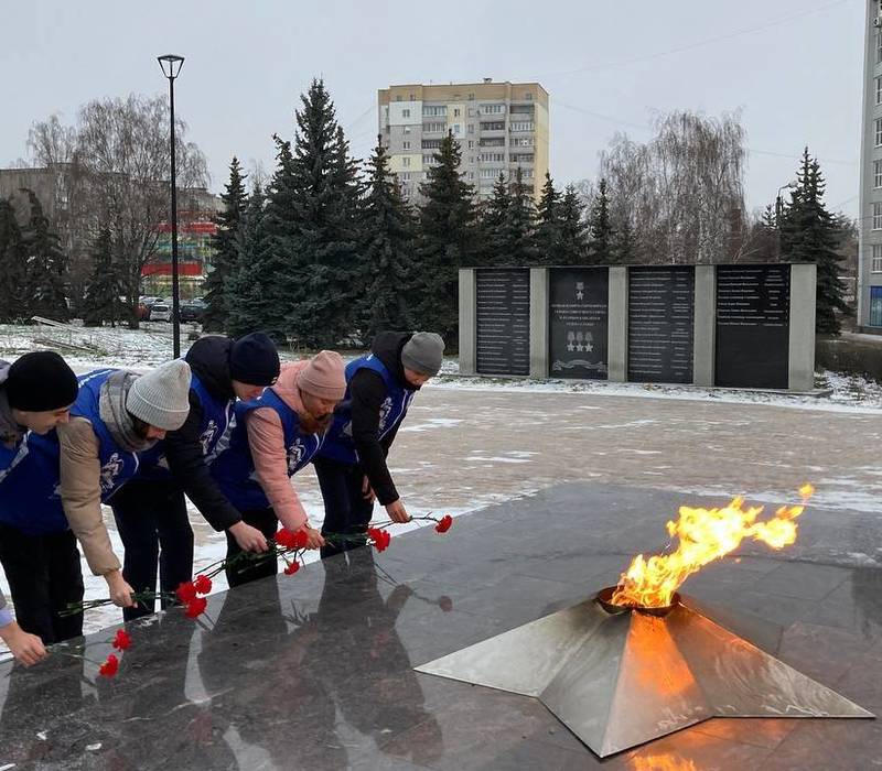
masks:
[[[67,256],[32,191],[28,191],[28,200],[31,215],[22,234],[28,260],[28,313],[66,322],[69,318],[65,285]]]

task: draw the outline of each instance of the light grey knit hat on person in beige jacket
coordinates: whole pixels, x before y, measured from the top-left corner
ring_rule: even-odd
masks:
[[[136,378],[126,410],[148,425],[178,431],[190,413],[190,365],[174,359]]]

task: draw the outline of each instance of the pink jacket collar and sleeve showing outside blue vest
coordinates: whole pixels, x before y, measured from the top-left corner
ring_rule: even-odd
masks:
[[[279,379],[271,387],[276,395],[297,412],[304,411],[297,379],[308,363],[306,359],[282,365]],[[270,408],[260,408],[248,415],[246,425],[260,487],[281,523],[291,531],[300,530],[306,524],[306,511],[288,476],[284,432],[279,414]]]

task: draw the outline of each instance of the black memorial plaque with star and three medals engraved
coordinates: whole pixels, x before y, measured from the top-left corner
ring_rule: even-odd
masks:
[[[552,268],[549,284],[549,376],[605,380],[610,269]]]

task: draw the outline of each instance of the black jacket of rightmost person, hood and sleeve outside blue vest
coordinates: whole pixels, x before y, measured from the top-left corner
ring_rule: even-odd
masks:
[[[412,336],[412,333],[381,332],[374,338],[370,352],[383,362],[399,383],[410,390],[417,390],[406,382],[405,368],[401,366],[401,348]],[[386,383],[377,372],[359,369],[349,383],[349,394],[352,398],[352,438],[358,453],[358,459],[370,481],[370,487],[377,495],[377,500],[383,506],[388,506],[398,500],[398,490],[395,489],[391,475],[386,466],[386,456],[398,433],[398,426],[381,439],[377,438],[379,411],[386,399]]]

